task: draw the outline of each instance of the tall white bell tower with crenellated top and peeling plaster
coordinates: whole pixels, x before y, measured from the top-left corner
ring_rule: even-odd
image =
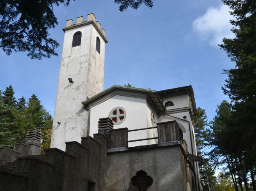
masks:
[[[67,20],[55,102],[51,148],[65,150],[65,142],[81,142],[88,135],[88,110],[81,103],[101,91],[104,83],[105,30],[95,22],[78,17]]]

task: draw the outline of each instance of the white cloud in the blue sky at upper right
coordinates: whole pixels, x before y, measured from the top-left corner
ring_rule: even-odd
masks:
[[[204,15],[194,20],[194,33],[202,40],[208,41],[210,45],[220,44],[223,37],[234,37],[230,31],[232,28],[230,19],[233,19],[233,16],[230,15],[228,6],[222,4],[219,7],[211,7]]]

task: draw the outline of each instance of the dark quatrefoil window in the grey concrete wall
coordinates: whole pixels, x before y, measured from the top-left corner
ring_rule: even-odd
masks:
[[[152,177],[148,176],[143,170],[136,172],[136,175],[132,177],[132,185],[136,187],[138,191],[146,191],[153,183]]]

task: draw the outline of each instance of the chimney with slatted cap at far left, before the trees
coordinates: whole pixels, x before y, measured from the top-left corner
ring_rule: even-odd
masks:
[[[26,134],[25,144],[30,146],[30,155],[40,154],[40,142],[42,139],[42,133],[37,129],[30,129]]]

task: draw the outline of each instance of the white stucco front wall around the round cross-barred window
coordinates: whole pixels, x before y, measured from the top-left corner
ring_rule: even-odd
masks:
[[[127,127],[132,130],[148,127],[146,99],[116,95],[90,109],[90,136],[98,133],[99,118],[108,117],[109,112],[115,107],[122,107],[126,111],[126,119],[121,124],[114,125],[115,129]],[[148,130],[128,132],[128,140],[143,138],[148,138]],[[131,142],[129,146],[146,144],[148,141]]]

